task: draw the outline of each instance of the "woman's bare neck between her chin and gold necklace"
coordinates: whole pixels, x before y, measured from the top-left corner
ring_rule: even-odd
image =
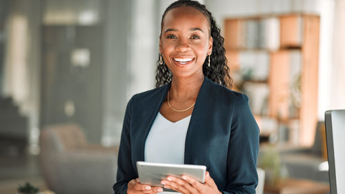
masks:
[[[173,77],[170,88],[170,99],[186,101],[197,99],[197,94],[204,82],[204,75],[198,77]]]

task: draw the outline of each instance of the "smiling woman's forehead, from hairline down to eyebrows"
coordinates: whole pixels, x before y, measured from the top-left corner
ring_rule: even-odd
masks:
[[[199,10],[190,6],[173,8],[166,13],[162,22],[164,28],[181,27],[183,24],[190,28],[209,28],[208,19]]]

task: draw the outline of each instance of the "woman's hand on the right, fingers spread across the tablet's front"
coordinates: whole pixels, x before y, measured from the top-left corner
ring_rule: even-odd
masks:
[[[164,184],[164,188],[173,189],[179,193],[184,194],[196,194],[196,193],[206,193],[206,194],[218,194],[221,193],[213,179],[210,177],[210,173],[206,171],[205,183],[200,183],[192,177],[182,175],[182,178],[168,176],[166,180],[162,180],[161,184]]]

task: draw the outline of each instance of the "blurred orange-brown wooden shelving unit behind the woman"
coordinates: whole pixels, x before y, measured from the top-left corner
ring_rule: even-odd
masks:
[[[250,97],[273,142],[313,144],[317,124],[319,16],[280,14],[225,20],[234,90]]]

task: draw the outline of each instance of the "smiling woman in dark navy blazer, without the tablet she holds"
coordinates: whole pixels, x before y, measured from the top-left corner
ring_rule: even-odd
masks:
[[[197,1],[176,1],[164,12],[157,88],[126,108],[115,193],[159,193],[140,184],[137,161],[199,164],[206,181],[167,177],[179,193],[255,193],[259,128],[248,97],[231,86],[224,39]]]

